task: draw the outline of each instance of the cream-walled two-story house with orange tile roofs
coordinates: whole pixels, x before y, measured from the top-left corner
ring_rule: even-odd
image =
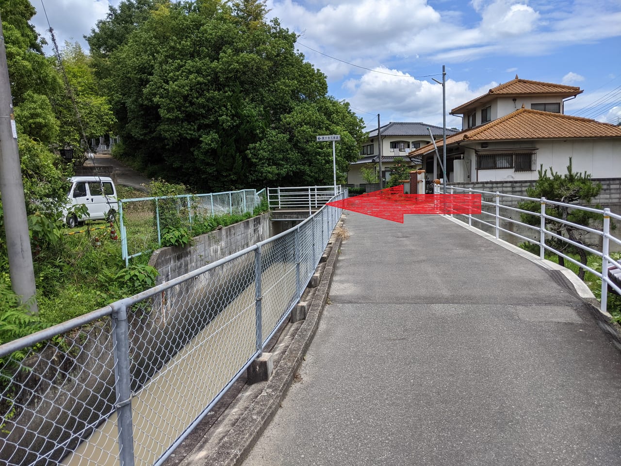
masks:
[[[569,157],[574,171],[621,177],[621,127],[564,114],[564,103],[581,93],[515,76],[455,107],[463,128],[446,138],[448,181],[536,180],[541,165],[566,173]],[[442,139],[436,144],[442,151]],[[433,152],[427,145],[408,155]]]

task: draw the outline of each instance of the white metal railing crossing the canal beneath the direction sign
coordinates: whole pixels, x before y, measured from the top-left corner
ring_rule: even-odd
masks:
[[[345,188],[337,186],[297,186],[294,188],[268,188],[270,209],[306,210],[309,215],[329,202],[333,196],[343,193]]]

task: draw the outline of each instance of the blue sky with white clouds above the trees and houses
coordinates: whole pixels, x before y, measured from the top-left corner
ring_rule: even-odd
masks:
[[[120,0],[30,0],[32,22],[59,43],[88,35]],[[268,17],[299,35],[297,49],[327,77],[369,129],[389,121],[442,126],[442,66],[448,115],[520,78],[579,86],[565,112],[621,121],[619,0],[267,0]],[[50,49],[51,50],[51,49]],[[48,52],[50,52],[48,50]]]

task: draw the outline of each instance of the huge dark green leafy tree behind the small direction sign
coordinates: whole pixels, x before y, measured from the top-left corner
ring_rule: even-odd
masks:
[[[126,155],[201,190],[331,185],[331,146],[315,136],[338,133],[347,173],[362,122],[265,12],[256,0],[153,4],[107,58]]]

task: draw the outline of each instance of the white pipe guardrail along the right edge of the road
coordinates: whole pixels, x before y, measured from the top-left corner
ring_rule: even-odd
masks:
[[[442,188],[436,186],[436,195],[442,195]],[[607,313],[607,294],[609,287],[617,291],[617,293],[621,293],[621,288],[614,283],[609,278],[609,267],[616,267],[621,269],[621,263],[614,260],[614,258],[610,257],[610,243],[615,244],[617,246],[621,246],[621,239],[615,237],[612,234],[612,229],[610,227],[610,219],[615,219],[616,221],[621,221],[621,215],[614,214],[610,212],[610,209],[594,209],[590,207],[577,206],[575,204],[565,204],[559,203],[555,201],[549,201],[546,198],[528,198],[525,196],[514,196],[512,194],[502,194],[499,192],[490,192],[490,191],[480,191],[473,190],[471,188],[460,188],[458,186],[448,186],[446,190],[446,194],[455,194],[455,193],[471,193],[471,194],[481,194],[481,206],[482,211],[481,214],[468,214],[455,216],[461,221],[467,222],[469,226],[475,226],[480,229],[489,229],[496,236],[496,239],[499,239],[501,232],[504,234],[515,237],[519,240],[523,240],[525,242],[530,242],[531,244],[535,244],[539,246],[539,258],[545,258],[545,252],[552,252],[554,254],[560,255],[565,260],[568,260],[578,267],[584,268],[587,272],[592,273],[593,275],[601,278],[602,286],[601,286],[601,311],[602,313]],[[540,203],[541,211],[540,212],[532,212],[524,209],[520,209],[517,207],[517,203],[522,201],[535,201]],[[601,216],[601,229],[585,227],[573,222],[566,221],[564,219],[560,219],[558,217],[549,216],[546,214],[546,206],[561,206],[571,209],[572,211],[584,211],[584,212],[592,212],[599,216]],[[538,226],[532,226],[525,224],[524,222],[519,221],[515,218],[517,216],[519,218],[519,214],[528,214],[535,217],[540,218],[540,222]],[[451,215],[453,217],[453,215]],[[601,239],[601,250],[594,249],[593,247],[583,244],[581,241],[574,241],[563,235],[560,235],[556,232],[548,229],[550,221],[560,222],[561,224],[570,226],[575,228],[578,231],[578,235],[584,237],[585,235],[591,235],[594,237],[599,237]],[[527,232],[532,232],[534,236],[527,236],[525,234],[520,234],[518,232],[512,231],[511,229],[505,228],[501,226],[501,224],[514,224],[516,226],[521,227]],[[589,267],[586,264],[583,264],[576,260],[573,257],[570,257],[567,254],[564,254],[563,251],[555,249],[550,245],[550,240],[554,238],[563,242],[563,244],[573,245],[579,249],[586,251],[588,254],[596,255],[601,258],[601,271],[596,270],[592,267]]]

